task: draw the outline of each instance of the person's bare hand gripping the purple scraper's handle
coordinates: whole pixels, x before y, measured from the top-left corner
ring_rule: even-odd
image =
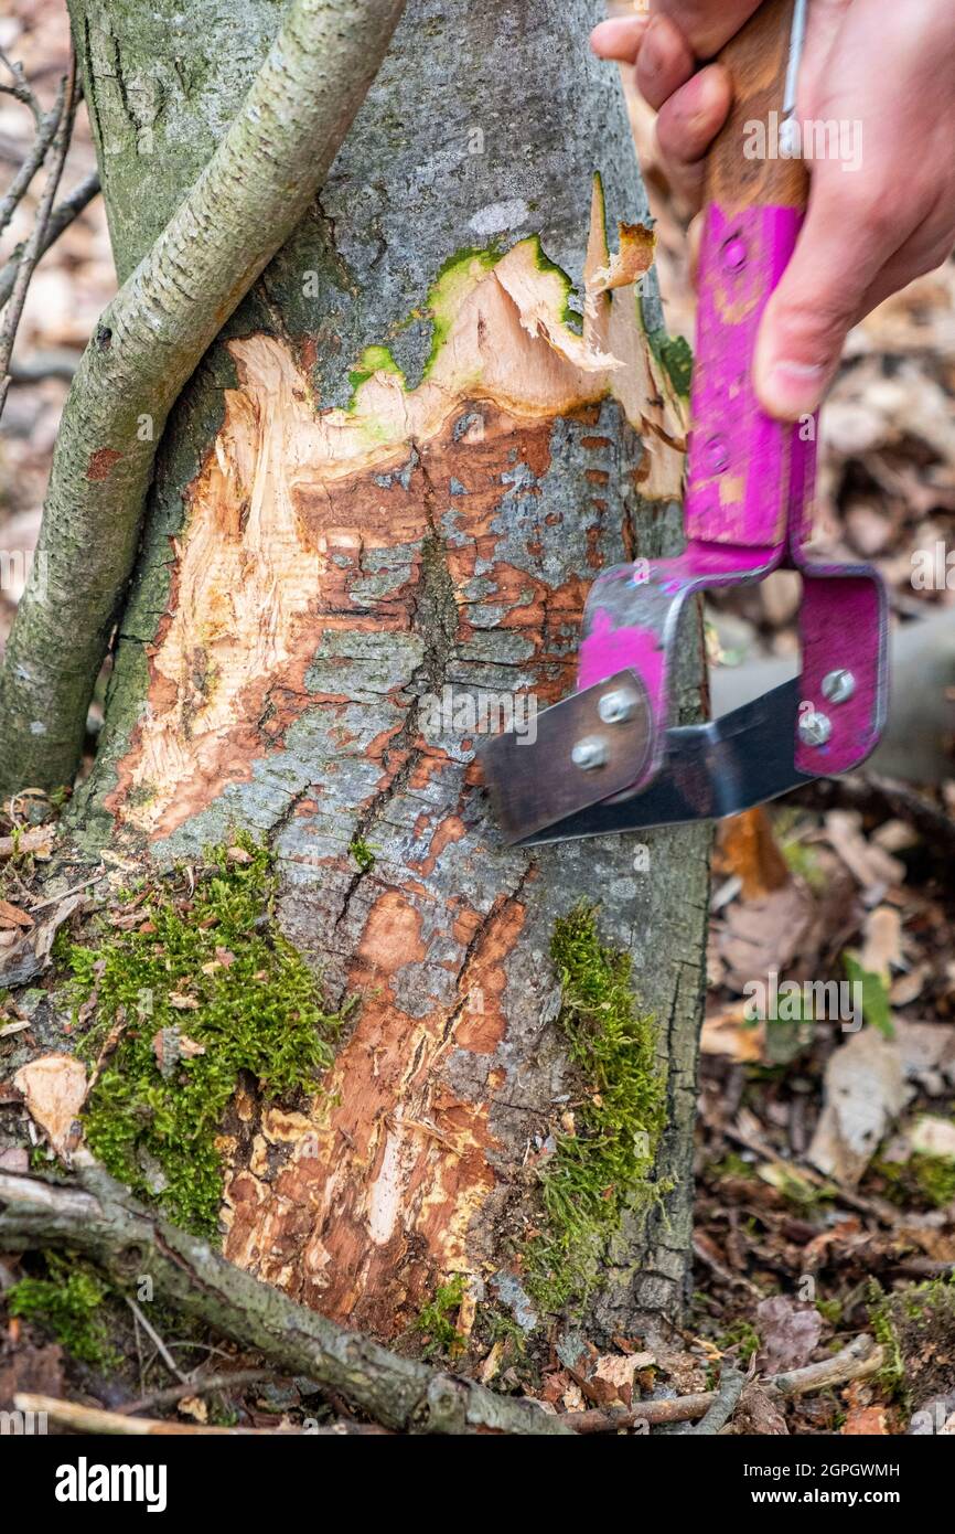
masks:
[[[757,3],[651,0],[650,17],[618,17],[592,34],[601,58],[635,64],[659,112],[661,160],[693,207],[733,95],[728,72],[707,60]],[[857,164],[812,161],[806,222],[766,307],[754,380],[782,420],[820,405],[851,327],[955,245],[952,0],[809,0],[797,117],[803,129],[846,124],[860,153]]]

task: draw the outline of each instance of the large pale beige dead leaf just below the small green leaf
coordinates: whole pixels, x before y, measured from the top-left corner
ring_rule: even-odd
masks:
[[[911,1097],[897,1040],[863,1028],[829,1058],[808,1160],[854,1187]]]

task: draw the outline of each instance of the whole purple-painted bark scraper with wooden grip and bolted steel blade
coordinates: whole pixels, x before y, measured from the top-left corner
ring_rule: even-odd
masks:
[[[771,420],[751,384],[759,322],[806,202],[805,166],[785,158],[805,20],[806,0],[765,0],[720,55],[734,106],[707,169],[687,548],[604,571],[584,611],[576,692],[538,716],[533,744],[509,733],[480,747],[512,844],[737,815],[849,772],[878,744],[888,701],[881,578],[865,565],[809,557],[816,423]],[[751,121],[779,124],[783,155],[743,155]],[[673,675],[688,598],[779,568],[803,580],[802,675],[720,719],[681,726]]]

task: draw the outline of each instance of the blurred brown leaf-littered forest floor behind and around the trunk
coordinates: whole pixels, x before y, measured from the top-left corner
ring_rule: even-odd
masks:
[[[0,46],[15,49],[49,97],[66,57],[58,0],[12,0],[0,20]],[[656,218],[668,324],[691,341],[687,222],[655,158],[651,114],[638,101],[632,112]],[[0,97],[5,175],[21,155],[28,126],[23,109]],[[64,187],[92,167],[81,112]],[[14,242],[31,212],[28,201]],[[112,290],[97,199],[41,262],[31,287],[0,439],[5,551],[28,554],[35,542],[69,373]],[[894,630],[912,629],[955,603],[955,574],[953,589],[946,580],[953,512],[955,264],[949,264],[884,304],[849,339],[822,423],[817,546],[835,558],[874,563],[889,588]],[[935,577],[941,571],[941,578],[917,580],[918,569]],[[17,597],[15,580],[5,580],[0,644]],[[788,572],[714,601],[707,614],[714,667],[742,673],[768,660],[793,660],[796,669],[797,606],[799,581]],[[861,773],[845,787],[720,828],[687,1328],[667,1350],[624,1338],[605,1356],[567,1364],[555,1355],[538,1387],[553,1410],[701,1391],[727,1364],[762,1376],[802,1370],[860,1333],[874,1333],[883,1347],[877,1376],[786,1397],[751,1390],[730,1430],[892,1434],[911,1430],[912,1413],[926,1407],[935,1411],[935,1430],[949,1419],[955,1424],[950,704],[950,693],[932,693],[926,683],[921,782]],[[29,804],[8,808],[0,839],[23,834],[31,821]],[[23,927],[18,913],[34,919],[31,867],[0,859],[0,960]],[[751,977],[771,973],[777,1005],[773,996],[750,1005]],[[812,1022],[806,986],[826,983],[843,985],[829,992],[838,1016]],[[29,1014],[0,1002],[0,1075],[31,1037]],[[0,1117],[5,1109],[21,1111],[17,1095],[5,1098],[0,1088]],[[0,1170],[26,1164],[23,1150],[0,1149]],[[18,1266],[3,1259],[0,1290],[21,1278]],[[77,1292],[71,1325],[101,1299],[94,1290]],[[422,1336],[435,1358],[441,1348],[455,1353],[458,1302],[423,1319]],[[107,1379],[97,1345],[77,1361],[43,1327],[14,1316],[3,1321],[0,1310],[0,1327],[6,1325],[0,1397],[18,1388],[117,1407],[175,1385],[179,1370],[195,1384],[204,1374],[258,1367],[231,1344],[172,1318],[170,1324],[178,1335],[167,1332],[159,1342],[135,1313],[113,1318],[126,1365]],[[63,1332],[61,1341],[67,1336]],[[523,1387],[520,1356],[509,1353],[506,1339],[475,1367],[489,1381]],[[304,1381],[264,1370],[256,1382],[224,1385],[215,1394],[185,1391],[178,1408],[153,1402],[153,1410],[178,1410],[199,1422],[212,1410],[210,1420],[294,1425],[310,1414],[310,1391]]]

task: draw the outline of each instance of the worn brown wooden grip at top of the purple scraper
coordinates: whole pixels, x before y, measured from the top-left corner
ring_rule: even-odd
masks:
[[[794,9],[796,0],[763,0],[719,55],[733,77],[733,107],[707,160],[705,195],[727,212],[806,206],[803,161],[779,153]],[[753,155],[760,137],[753,124],[762,124],[763,158]]]

